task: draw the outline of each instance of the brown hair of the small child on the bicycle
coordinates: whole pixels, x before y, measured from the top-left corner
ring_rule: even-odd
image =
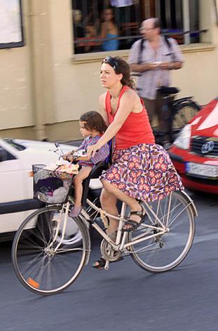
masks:
[[[104,134],[104,131],[107,130],[107,124],[104,122],[104,119],[99,112],[85,112],[81,115],[79,121],[83,122],[86,130],[99,131],[100,134]]]

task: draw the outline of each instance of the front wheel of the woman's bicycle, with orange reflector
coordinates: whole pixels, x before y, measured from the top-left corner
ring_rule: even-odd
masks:
[[[60,242],[63,220],[61,206],[45,207],[29,215],[15,234],[13,267],[22,285],[34,293],[49,295],[64,290],[86,264],[88,231],[78,218],[67,219],[74,228],[72,245],[62,244],[55,249]],[[60,231],[55,236],[58,223]]]

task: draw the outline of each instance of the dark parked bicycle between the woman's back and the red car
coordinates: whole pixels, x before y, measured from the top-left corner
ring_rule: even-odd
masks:
[[[169,137],[169,143],[173,143],[179,132],[201,109],[192,96],[175,99],[179,93],[176,87],[161,86],[158,89],[163,98],[163,117],[165,120],[165,132],[154,131],[156,142],[162,144],[164,136]]]

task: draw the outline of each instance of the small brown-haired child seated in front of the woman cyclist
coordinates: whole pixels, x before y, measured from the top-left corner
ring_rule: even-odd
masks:
[[[95,145],[101,138],[104,131],[107,129],[107,124],[104,122],[102,115],[99,112],[85,112],[79,119],[80,131],[83,137],[86,137],[79,148],[73,150],[64,156],[65,160],[74,160],[75,154],[82,150],[87,150],[90,145]],[[88,177],[93,166],[100,161],[107,159],[109,155],[109,145],[103,145],[93,157],[81,155],[78,164],[81,167],[79,174],[74,176],[74,208],[69,213],[69,216],[76,217],[81,212],[81,200],[83,195],[83,180]]]

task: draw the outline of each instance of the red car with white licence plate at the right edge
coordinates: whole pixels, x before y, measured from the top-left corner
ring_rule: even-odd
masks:
[[[186,188],[218,194],[218,98],[184,126],[168,152]]]

